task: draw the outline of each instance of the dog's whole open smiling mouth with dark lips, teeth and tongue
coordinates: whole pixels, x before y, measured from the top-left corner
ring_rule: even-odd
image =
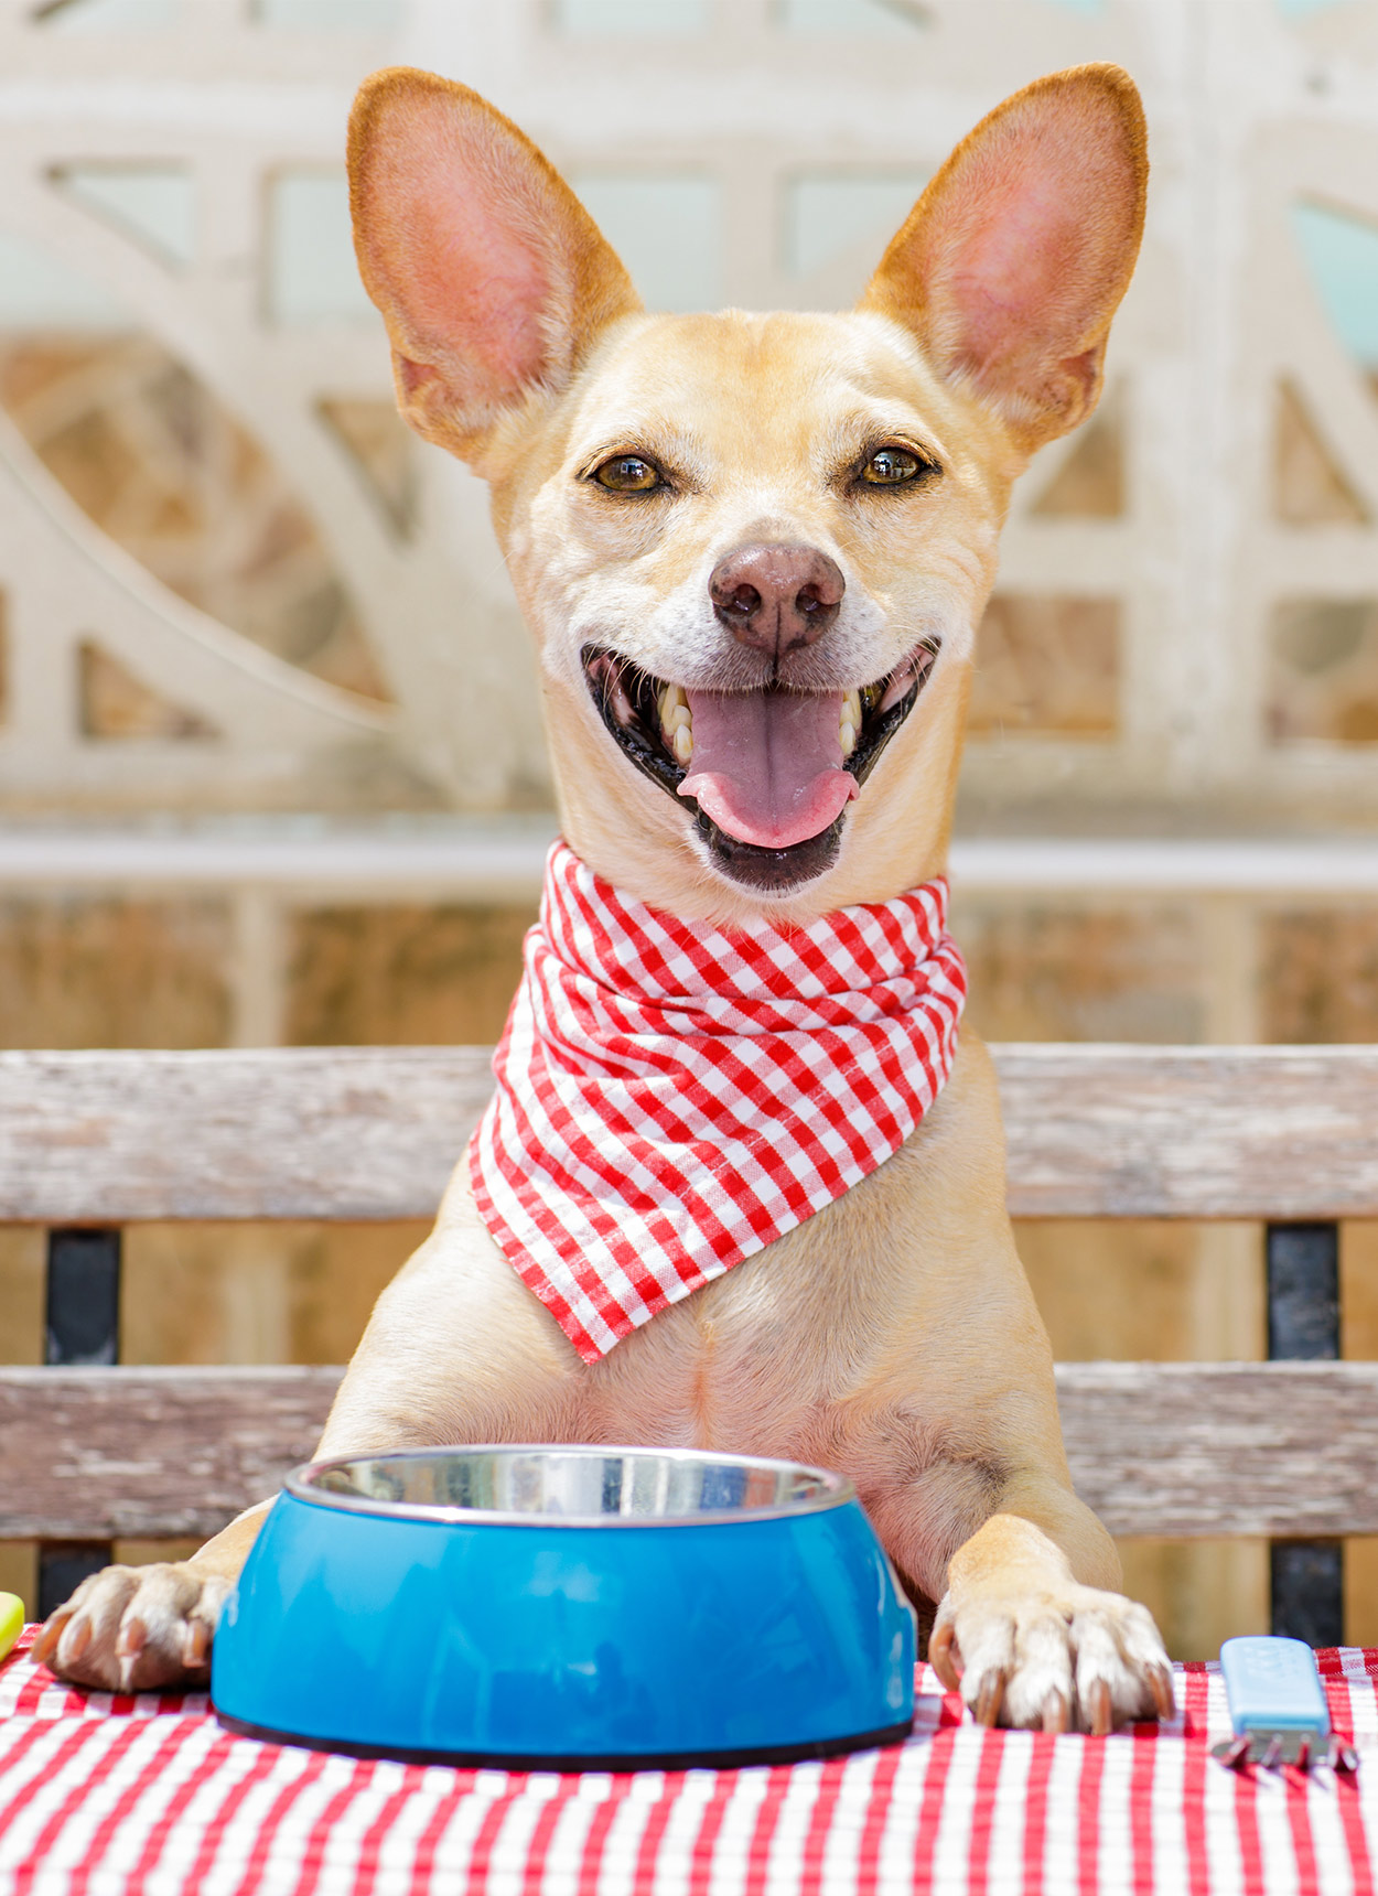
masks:
[[[914,709],[938,656],[923,639],[857,690],[707,692],[586,645],[603,722],[637,770],[688,804],[724,874],[785,891],[830,868],[847,804]]]

